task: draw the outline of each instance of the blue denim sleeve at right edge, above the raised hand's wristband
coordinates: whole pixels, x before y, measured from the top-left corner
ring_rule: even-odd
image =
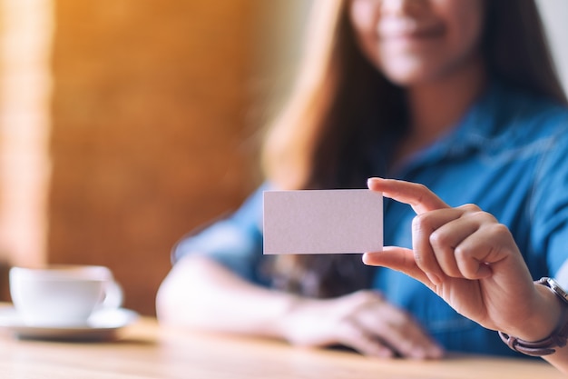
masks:
[[[560,133],[551,138],[537,169],[531,209],[534,250],[545,254],[544,274],[549,276],[559,274],[568,262],[568,116],[556,121]]]

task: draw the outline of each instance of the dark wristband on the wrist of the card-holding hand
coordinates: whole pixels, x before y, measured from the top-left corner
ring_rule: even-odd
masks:
[[[534,282],[535,284],[542,284],[551,289],[553,293],[559,297],[563,304],[568,304],[568,294],[563,290],[563,288],[556,283],[555,280],[544,277],[540,280]],[[557,347],[563,347],[568,341],[568,306],[563,307],[563,314],[561,316],[560,326],[553,331],[551,335],[544,338],[541,341],[528,342],[520,338],[513,337],[503,332],[499,332],[501,340],[507,344],[515,352],[519,352],[531,356],[543,356],[553,354]]]

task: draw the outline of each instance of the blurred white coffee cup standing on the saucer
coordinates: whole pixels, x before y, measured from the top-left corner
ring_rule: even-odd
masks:
[[[13,267],[10,294],[24,324],[32,326],[84,326],[95,311],[122,304],[120,285],[99,265]]]

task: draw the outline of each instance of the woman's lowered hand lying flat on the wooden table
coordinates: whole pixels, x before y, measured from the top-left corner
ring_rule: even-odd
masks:
[[[323,300],[299,298],[283,319],[284,338],[297,346],[340,344],[378,357],[426,359],[444,354],[410,314],[375,291]]]

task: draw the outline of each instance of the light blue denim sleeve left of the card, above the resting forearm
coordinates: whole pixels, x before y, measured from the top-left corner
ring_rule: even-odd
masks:
[[[235,213],[183,237],[173,248],[172,262],[175,264],[187,254],[205,255],[235,274],[259,283],[262,193],[268,187],[261,185]]]

